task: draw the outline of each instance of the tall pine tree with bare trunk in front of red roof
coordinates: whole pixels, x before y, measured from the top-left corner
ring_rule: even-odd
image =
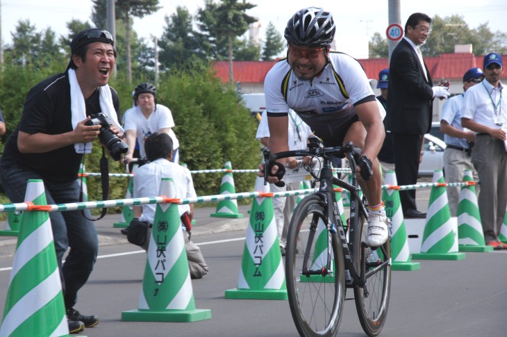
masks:
[[[256,5],[246,0],[221,0],[213,3],[213,0],[206,0],[204,8],[197,10],[201,31],[208,34],[208,37],[215,44],[225,42],[227,46],[227,58],[229,63],[229,80],[234,83],[233,76],[233,49],[234,40],[243,35],[249,24],[257,19],[247,15],[245,12]],[[213,43],[212,42],[212,43]]]

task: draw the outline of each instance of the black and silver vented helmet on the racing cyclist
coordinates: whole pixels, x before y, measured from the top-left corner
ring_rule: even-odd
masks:
[[[329,47],[335,38],[335,22],[323,8],[299,10],[285,27],[284,37],[290,44],[308,47]]]

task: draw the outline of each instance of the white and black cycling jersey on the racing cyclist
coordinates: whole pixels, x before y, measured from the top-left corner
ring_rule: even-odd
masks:
[[[333,136],[333,130],[339,130],[355,115],[356,104],[375,100],[360,63],[336,51],[331,51],[329,62],[311,80],[298,79],[287,59],[281,59],[267,73],[264,91],[268,116],[287,115],[292,108],[316,135],[324,138]],[[383,108],[381,115],[385,115]]]

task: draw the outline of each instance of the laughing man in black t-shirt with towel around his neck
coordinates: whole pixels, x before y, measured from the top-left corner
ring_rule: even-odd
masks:
[[[44,181],[47,204],[78,202],[79,165],[103,129],[90,123],[90,115],[104,113],[116,124],[108,131],[117,134],[121,130],[117,125],[118,95],[108,86],[116,62],[113,36],[108,31],[86,29],[74,37],[70,47],[66,71],[31,88],[19,125],[7,140],[0,178],[12,202],[24,202],[28,179]],[[80,332],[99,323],[97,316],[81,315],[74,309],[78,290],[97,259],[97,230],[81,211],[51,212],[49,217],[69,331]]]

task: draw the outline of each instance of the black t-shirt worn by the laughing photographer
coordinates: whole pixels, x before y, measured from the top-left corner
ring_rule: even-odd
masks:
[[[110,88],[113,106],[119,115],[117,92]],[[86,115],[101,112],[99,90],[85,101]],[[26,96],[24,110],[15,131],[9,136],[3,156],[2,167],[17,165],[20,169],[38,172],[43,179],[62,183],[77,179],[82,154],[77,154],[74,145],[60,147],[42,154],[22,154],[17,147],[19,130],[33,135],[46,133],[58,135],[72,131],[70,108],[70,85],[67,73],[56,74],[31,88]]]

